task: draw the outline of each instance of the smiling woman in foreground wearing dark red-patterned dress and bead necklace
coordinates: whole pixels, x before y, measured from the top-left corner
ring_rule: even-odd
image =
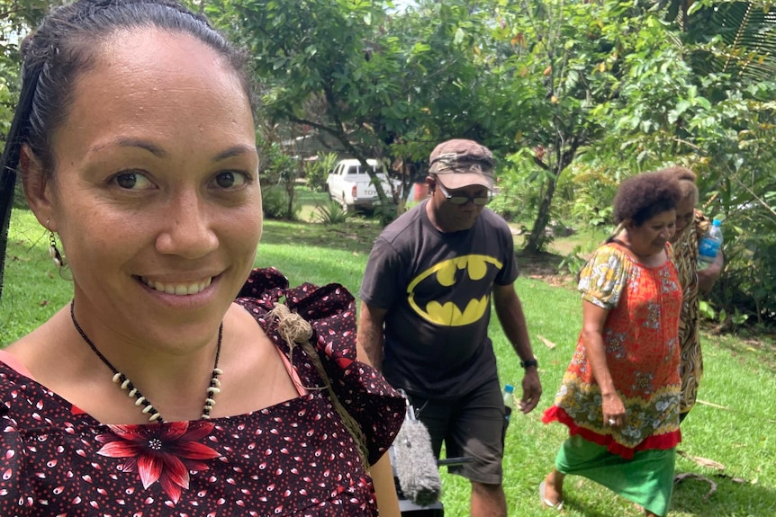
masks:
[[[2,227],[18,170],[73,299],[0,352],[0,514],[374,515],[386,470],[398,510],[404,404],[356,361],[353,298],[251,271],[242,53],[169,0],[67,5],[23,50]]]

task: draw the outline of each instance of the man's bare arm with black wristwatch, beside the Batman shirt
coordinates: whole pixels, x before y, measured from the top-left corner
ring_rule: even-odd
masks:
[[[496,306],[496,315],[499,316],[501,328],[504,329],[507,339],[512,343],[512,348],[517,352],[520,361],[534,359],[531,342],[528,339],[528,325],[523,314],[523,306],[520,304],[515,286],[493,285],[493,303]],[[529,366],[523,376],[523,397],[520,399],[520,411],[530,413],[539,403],[542,396],[542,384],[536,366]]]

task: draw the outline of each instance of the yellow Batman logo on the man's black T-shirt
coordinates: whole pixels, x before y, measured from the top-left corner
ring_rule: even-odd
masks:
[[[411,281],[407,287],[408,300],[411,308],[421,317],[436,325],[445,326],[463,326],[471,325],[480,320],[490,306],[491,298],[489,294],[484,294],[481,298],[464,300],[462,303],[456,303],[449,300],[453,297],[453,290],[445,293],[445,301],[430,300],[425,308],[421,308],[416,295],[422,282],[436,275],[436,284],[433,292],[438,292],[439,287],[450,288],[456,285],[456,281],[463,281],[468,276],[469,281],[477,282],[483,280],[488,273],[489,264],[500,270],[501,262],[488,255],[470,254],[459,256],[447,261],[437,263],[425,272],[420,273],[415,280]],[[456,280],[456,273],[463,270],[465,276]],[[458,273],[460,276],[460,273]],[[490,286],[483,286],[482,290],[490,293]],[[481,290],[481,292],[482,292]],[[466,295],[465,295],[466,296]],[[441,298],[441,297],[440,297]]]

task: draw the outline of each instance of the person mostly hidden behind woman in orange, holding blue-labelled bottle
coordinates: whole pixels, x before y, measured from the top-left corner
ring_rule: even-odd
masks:
[[[699,242],[708,232],[710,221],[695,208],[698,203],[695,173],[679,166],[669,167],[663,171],[676,177],[681,188],[681,199],[676,205],[676,233],[672,236],[671,244],[684,295],[679,320],[681,349],[679,421],[683,422],[690,413],[690,409],[695,406],[700,379],[703,375],[703,355],[700,350],[698,331],[699,294],[708,293],[714,286],[714,282],[722,272],[724,259],[720,247],[713,263],[706,268],[699,267]]]

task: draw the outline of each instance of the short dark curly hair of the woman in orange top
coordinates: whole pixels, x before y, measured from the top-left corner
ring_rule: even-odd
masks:
[[[614,222],[631,219],[640,227],[655,215],[675,209],[680,200],[676,174],[665,171],[636,174],[619,185],[614,197]]]

